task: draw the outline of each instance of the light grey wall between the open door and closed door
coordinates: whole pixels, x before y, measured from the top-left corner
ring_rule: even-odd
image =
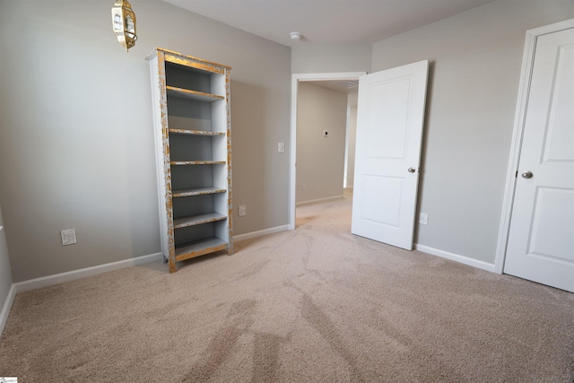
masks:
[[[526,30],[572,17],[499,0],[374,45],[373,71],[431,60],[419,244],[494,262]]]

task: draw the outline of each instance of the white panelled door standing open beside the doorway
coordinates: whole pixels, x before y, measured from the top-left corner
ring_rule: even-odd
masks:
[[[413,249],[429,62],[359,79],[353,234]]]

